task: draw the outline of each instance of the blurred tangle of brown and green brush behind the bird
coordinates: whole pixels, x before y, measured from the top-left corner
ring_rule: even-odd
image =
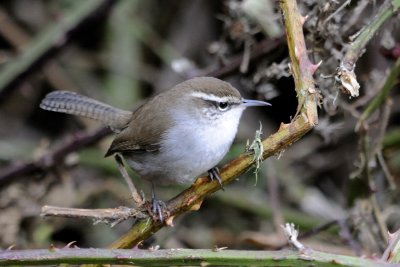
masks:
[[[379,30],[357,63],[361,96],[343,95],[334,79],[350,37],[383,1],[298,1],[308,15],[319,125],[279,155],[207,198],[142,246],[280,249],[280,225],[294,222],[315,249],[380,254],[387,230],[400,226],[399,94],[365,129],[360,113],[382,89],[399,56],[398,15]],[[113,228],[89,220],[40,218],[43,205],[130,206],[112,158],[112,135],[95,121],[41,110],[53,90],[75,91],[133,110],[146,98],[195,76],[232,83],[247,110],[224,162],[244,152],[262,123],[263,138],[289,123],[297,100],[278,1],[2,0],[0,2],[0,247],[43,248],[76,241],[105,247],[132,221]],[[398,86],[397,86],[398,89]],[[221,163],[222,165],[223,163]],[[135,184],[149,185],[133,172]],[[167,200],[184,187],[164,187]]]

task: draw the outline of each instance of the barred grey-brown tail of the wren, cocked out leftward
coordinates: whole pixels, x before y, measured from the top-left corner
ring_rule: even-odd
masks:
[[[118,109],[68,91],[54,91],[47,94],[40,103],[40,107],[45,110],[99,120],[117,131],[126,127],[132,116],[130,111]]]

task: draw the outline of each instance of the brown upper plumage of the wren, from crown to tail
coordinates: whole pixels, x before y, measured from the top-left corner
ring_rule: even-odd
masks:
[[[197,77],[154,96],[134,112],[118,109],[86,96],[66,91],[55,91],[48,94],[42,100],[40,107],[45,110],[100,120],[110,126],[117,135],[105,156],[118,152],[154,152],[159,148],[158,142],[161,135],[167,130],[168,125],[174,123],[169,121],[169,107],[190,104],[181,103],[185,101],[185,98],[177,100],[171,95],[176,93],[185,95],[193,90],[205,94],[212,93],[217,97],[232,96],[233,92],[235,97],[241,98],[239,91],[227,82],[212,77]],[[169,101],[168,105],[165,105],[166,99]],[[201,100],[198,99],[198,101]],[[146,123],[146,121],[151,123]]]

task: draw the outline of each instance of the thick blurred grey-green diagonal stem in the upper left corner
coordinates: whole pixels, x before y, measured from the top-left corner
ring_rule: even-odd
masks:
[[[86,25],[109,10],[115,0],[87,0],[76,4],[75,8],[66,14],[65,19],[54,27],[45,30],[31,42],[18,58],[8,63],[0,73],[0,104],[25,78],[35,72],[44,62],[60,52],[68,41]]]

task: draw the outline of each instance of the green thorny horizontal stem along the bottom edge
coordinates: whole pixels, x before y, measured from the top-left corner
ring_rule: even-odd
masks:
[[[318,252],[249,251],[223,249],[37,249],[0,251],[0,266],[54,264],[118,264],[135,266],[397,266],[370,260]]]

